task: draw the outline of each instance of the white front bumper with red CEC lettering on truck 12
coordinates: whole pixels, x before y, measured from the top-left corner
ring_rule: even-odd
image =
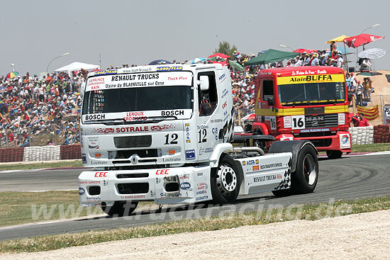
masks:
[[[210,166],[126,171],[83,171],[79,199],[84,206],[115,201],[155,200],[157,204],[211,200]]]

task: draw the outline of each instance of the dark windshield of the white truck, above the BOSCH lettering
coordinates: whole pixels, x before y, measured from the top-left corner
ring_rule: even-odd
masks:
[[[88,91],[83,115],[128,111],[192,109],[191,86],[152,86]]]

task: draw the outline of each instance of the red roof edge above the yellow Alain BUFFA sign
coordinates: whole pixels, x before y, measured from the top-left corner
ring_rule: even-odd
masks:
[[[311,75],[311,74],[343,74],[344,70],[339,67],[330,66],[302,66],[302,67],[282,67],[274,69],[262,69],[257,74],[258,77],[280,74],[279,77]]]

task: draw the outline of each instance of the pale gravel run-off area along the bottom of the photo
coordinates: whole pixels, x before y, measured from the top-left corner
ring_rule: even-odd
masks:
[[[0,254],[0,259],[389,259],[390,210]]]

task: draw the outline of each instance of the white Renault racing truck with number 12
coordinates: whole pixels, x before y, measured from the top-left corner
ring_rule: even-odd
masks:
[[[82,205],[130,215],[139,201],[233,203],[238,195],[311,193],[318,180],[308,141],[235,147],[230,72],[221,64],[91,72],[81,118]]]

